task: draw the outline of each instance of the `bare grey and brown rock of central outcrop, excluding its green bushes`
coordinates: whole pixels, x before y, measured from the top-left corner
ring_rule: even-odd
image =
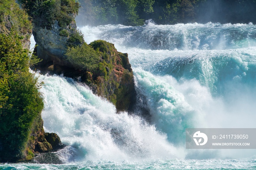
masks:
[[[97,40],[90,46],[99,53],[101,58],[98,68],[90,72],[78,69],[65,59],[68,42],[72,39],[69,35],[74,32],[76,32],[74,21],[65,28],[61,28],[58,21],[55,21],[50,29],[35,26],[33,35],[38,45],[35,48],[35,54],[42,59],[37,68],[42,72],[64,74],[71,78],[80,77],[82,82],[91,87],[94,94],[102,96],[116,105],[117,111],[131,110],[136,94],[128,54],[118,52],[114,44]],[[82,42],[80,41],[80,43]],[[78,43],[74,46],[79,47],[80,45]]]

